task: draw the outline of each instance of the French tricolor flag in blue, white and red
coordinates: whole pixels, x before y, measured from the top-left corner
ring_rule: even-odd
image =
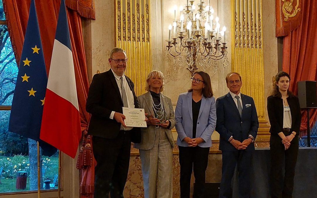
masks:
[[[40,138],[74,158],[81,125],[64,0],[61,0],[44,100]]]

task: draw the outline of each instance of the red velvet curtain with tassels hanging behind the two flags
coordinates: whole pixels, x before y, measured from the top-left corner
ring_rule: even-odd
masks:
[[[92,0],[87,1],[92,2]],[[51,62],[60,4],[60,0],[35,0],[47,72],[49,72]],[[9,34],[18,64],[20,62],[19,60],[22,53],[24,35],[29,17],[29,6],[30,0],[3,0],[3,7],[8,21]],[[81,175],[81,192],[83,192],[81,197],[92,198],[94,186],[94,158],[91,152],[91,144],[89,144],[90,139],[87,139],[86,132],[90,119],[90,114],[85,110],[89,82],[87,77],[86,56],[81,28],[81,16],[75,10],[71,10],[69,8],[67,9],[67,15],[74,60],[78,105],[81,117],[81,129],[84,134],[84,143],[81,151],[87,147],[85,151],[89,150],[87,152],[90,153],[88,162],[82,162],[81,164],[83,165],[79,166]],[[84,160],[82,156],[79,158]]]

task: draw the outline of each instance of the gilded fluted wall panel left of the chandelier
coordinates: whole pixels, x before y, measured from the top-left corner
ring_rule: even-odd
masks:
[[[152,69],[149,0],[116,0],[114,4],[116,47],[126,50],[126,75],[140,95],[146,92],[146,76]]]

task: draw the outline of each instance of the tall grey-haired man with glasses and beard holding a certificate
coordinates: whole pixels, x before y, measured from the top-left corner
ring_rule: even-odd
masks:
[[[108,59],[111,69],[94,75],[86,110],[91,113],[88,134],[97,161],[94,197],[123,197],[128,175],[131,141],[139,143],[139,128],[127,127],[122,107],[138,108],[132,80],[125,75],[126,52],[113,48]]]

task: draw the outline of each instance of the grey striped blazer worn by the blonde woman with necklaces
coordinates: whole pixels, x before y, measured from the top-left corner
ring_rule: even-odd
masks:
[[[145,113],[149,113],[154,115],[152,100],[151,100],[151,93],[147,92],[137,97],[139,102],[139,108],[144,109]],[[174,110],[172,105],[172,100],[167,96],[162,94],[163,100],[163,108],[166,112],[166,120],[171,122],[171,127],[175,126],[175,116]],[[141,128],[141,143],[134,144],[134,148],[141,149],[141,150],[150,150],[153,148],[154,141],[155,141],[155,132],[156,130],[164,129],[166,136],[171,144],[174,147],[174,139],[172,135],[171,129],[167,128],[156,128],[155,125],[148,125],[146,128]]]

